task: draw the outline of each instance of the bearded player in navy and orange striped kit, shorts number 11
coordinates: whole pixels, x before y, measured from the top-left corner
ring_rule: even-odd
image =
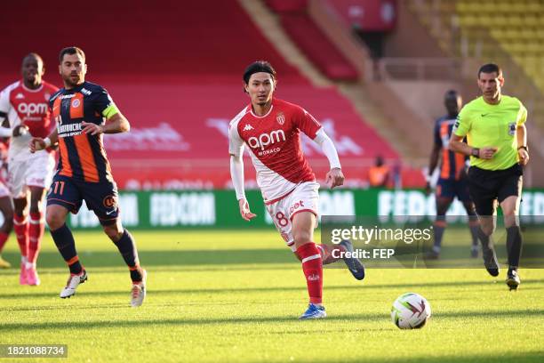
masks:
[[[60,160],[47,195],[45,220],[70,270],[60,297],[76,294],[76,288],[87,280],[74,236],[65,223],[68,213],[76,214],[85,201],[129,268],[131,305],[137,307],[147,294],[146,270],[140,267],[134,238],[121,224],[116,182],[103,147],[103,133],[128,132],[130,124],[104,88],[85,81],[86,71],[85,54],[80,48],[60,51],[64,87],[49,101],[57,128],[48,137],[35,137],[29,144],[31,152],[59,145]]]

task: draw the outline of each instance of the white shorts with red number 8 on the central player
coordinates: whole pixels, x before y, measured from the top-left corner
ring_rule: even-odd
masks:
[[[292,217],[299,212],[311,212],[318,215],[319,183],[316,181],[302,182],[279,200],[265,202],[268,214],[276,225],[276,229],[284,238],[292,252],[295,252],[294,238],[292,237]],[[317,225],[316,225],[317,227]]]

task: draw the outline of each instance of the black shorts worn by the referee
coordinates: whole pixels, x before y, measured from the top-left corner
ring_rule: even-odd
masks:
[[[524,169],[513,165],[504,170],[468,169],[468,191],[478,215],[493,215],[497,207],[510,196],[521,197]]]

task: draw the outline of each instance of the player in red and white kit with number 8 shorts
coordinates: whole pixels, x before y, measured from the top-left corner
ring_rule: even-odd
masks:
[[[268,214],[287,246],[302,263],[307,281],[309,304],[300,319],[326,317],[323,306],[323,264],[343,256],[350,272],[364,278],[364,266],[351,254],[348,240],[339,245],[316,245],[318,189],[316,176],[300,148],[300,132],[308,135],[323,150],[331,170],[326,174],[329,187],[344,182],[340,160],[334,143],[323,127],[305,109],[274,97],[276,71],[264,60],[255,61],[244,71],[244,92],[251,103],[233,118],[228,128],[230,174],[236,190],[240,214],[250,221],[252,214],[244,193],[244,145],[257,171]],[[338,250],[337,254],[333,254]]]

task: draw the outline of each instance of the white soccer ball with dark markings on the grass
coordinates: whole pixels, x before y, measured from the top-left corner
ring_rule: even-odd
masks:
[[[430,318],[430,305],[420,294],[407,293],[398,296],[391,308],[391,319],[401,329],[418,329]]]

